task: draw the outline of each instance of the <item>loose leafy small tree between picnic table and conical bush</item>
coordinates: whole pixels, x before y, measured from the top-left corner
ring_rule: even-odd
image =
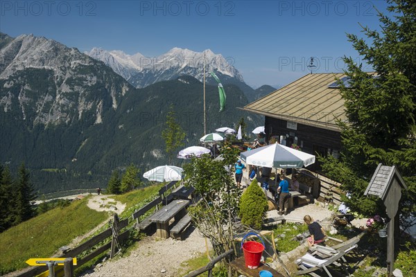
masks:
[[[223,161],[204,154],[184,166],[187,186],[193,186],[202,197],[189,213],[198,229],[211,240],[217,256],[233,247],[232,222],[239,213],[241,195],[230,171],[237,152],[225,147],[222,154]]]

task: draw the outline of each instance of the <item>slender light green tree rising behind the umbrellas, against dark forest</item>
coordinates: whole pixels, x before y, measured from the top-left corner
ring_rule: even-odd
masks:
[[[180,146],[184,146],[185,132],[176,122],[176,114],[173,105],[169,106],[168,114],[166,115],[166,127],[162,131],[162,138],[165,141],[166,153],[169,157],[169,164],[172,163],[173,152]]]

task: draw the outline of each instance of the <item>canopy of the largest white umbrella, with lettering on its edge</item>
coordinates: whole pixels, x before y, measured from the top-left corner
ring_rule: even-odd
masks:
[[[315,156],[279,143],[242,152],[240,157],[249,165],[266,168],[302,168],[315,163]]]

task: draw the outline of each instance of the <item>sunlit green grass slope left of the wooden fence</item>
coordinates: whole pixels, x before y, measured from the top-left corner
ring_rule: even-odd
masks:
[[[155,184],[124,195],[114,195],[126,204],[121,217],[130,217],[135,208],[146,204],[164,184]],[[64,208],[53,208],[42,215],[0,233],[0,276],[27,267],[29,258],[49,258],[74,238],[83,235],[109,218],[109,213],[94,211],[87,206],[89,197],[72,202]]]

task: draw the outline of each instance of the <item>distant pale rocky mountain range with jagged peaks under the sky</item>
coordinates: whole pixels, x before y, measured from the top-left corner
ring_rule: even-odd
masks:
[[[241,73],[232,65],[234,64],[232,57],[225,58],[209,49],[194,52],[175,47],[157,57],[145,57],[141,53],[128,55],[119,50],[106,51],[94,47],[91,51],[85,51],[85,54],[104,62],[115,73],[121,75],[137,88],[147,87],[149,84],[159,81],[173,80],[180,75],[191,75],[202,82],[205,64],[205,82],[207,84],[216,84],[214,78],[209,74],[209,71],[213,71],[223,84],[236,84],[250,102],[267,94],[254,90],[245,84]]]

